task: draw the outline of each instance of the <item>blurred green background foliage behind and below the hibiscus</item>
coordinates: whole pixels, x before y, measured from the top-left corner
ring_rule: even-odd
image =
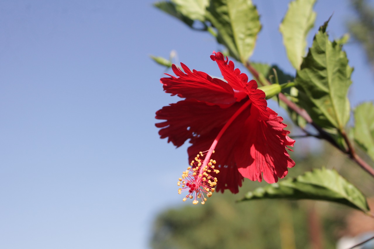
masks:
[[[350,1],[357,15],[347,21],[347,28],[374,66],[374,8],[367,0]],[[285,123],[292,122],[285,120]],[[297,133],[296,130],[291,134]],[[289,170],[287,178],[313,168],[336,169],[371,197],[374,188],[371,176],[331,145],[313,138],[298,138],[296,146],[297,153],[291,152],[296,167]],[[364,153],[360,156],[373,165]],[[310,200],[236,203],[246,192],[266,184],[245,179],[236,195],[230,191],[215,193],[205,205],[181,202],[180,206],[159,213],[152,228],[151,248],[336,248],[337,240],[343,236],[374,230],[372,218],[334,203]],[[369,203],[373,210],[373,200]]]

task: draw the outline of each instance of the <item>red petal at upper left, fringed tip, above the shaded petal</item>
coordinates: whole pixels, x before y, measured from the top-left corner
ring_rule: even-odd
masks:
[[[197,99],[199,101],[209,102],[221,106],[231,105],[236,102],[234,90],[226,82],[220,79],[213,79],[204,72],[191,70],[181,63],[182,70],[174,64],[172,69],[179,76],[161,78],[160,82],[167,93],[178,95],[181,98]]]

